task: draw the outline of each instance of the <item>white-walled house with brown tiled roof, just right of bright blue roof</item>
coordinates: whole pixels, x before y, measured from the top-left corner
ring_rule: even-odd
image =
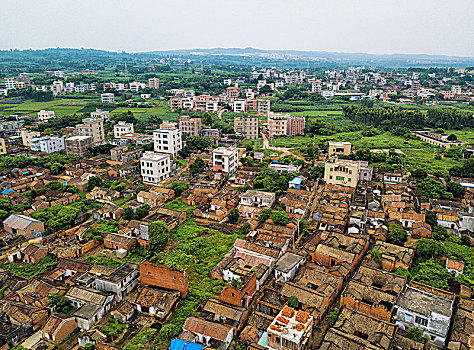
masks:
[[[234,337],[233,327],[197,317],[186,319],[183,330],[192,334],[193,342],[212,349],[226,350]]]

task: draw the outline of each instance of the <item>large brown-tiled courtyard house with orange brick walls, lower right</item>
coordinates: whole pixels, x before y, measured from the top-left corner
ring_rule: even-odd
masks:
[[[341,306],[390,322],[406,278],[361,266],[341,295]]]

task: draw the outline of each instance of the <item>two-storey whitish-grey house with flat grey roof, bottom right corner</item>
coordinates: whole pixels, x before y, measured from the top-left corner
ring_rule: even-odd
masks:
[[[445,345],[454,311],[453,293],[412,281],[401,293],[396,307],[398,327],[417,327],[436,346]]]

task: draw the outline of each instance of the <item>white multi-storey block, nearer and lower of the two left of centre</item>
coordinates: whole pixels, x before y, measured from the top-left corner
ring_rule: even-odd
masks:
[[[171,157],[169,154],[145,152],[140,158],[140,167],[143,182],[154,185],[169,177]]]

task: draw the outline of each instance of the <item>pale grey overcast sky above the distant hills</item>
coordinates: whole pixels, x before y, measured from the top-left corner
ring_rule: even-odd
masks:
[[[0,49],[474,56],[474,0],[0,0]]]

